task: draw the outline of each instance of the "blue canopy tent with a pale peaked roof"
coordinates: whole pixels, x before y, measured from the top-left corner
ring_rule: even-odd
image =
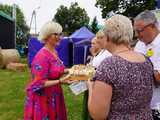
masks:
[[[89,44],[83,44],[82,41],[90,41],[94,36],[87,27],[81,27],[69,37],[73,42],[73,64],[85,63]]]

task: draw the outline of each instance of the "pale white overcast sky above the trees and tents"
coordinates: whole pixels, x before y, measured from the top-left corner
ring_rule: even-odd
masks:
[[[32,12],[36,9],[37,31],[45,22],[52,20],[60,5],[69,7],[71,2],[78,2],[79,6],[87,11],[91,20],[97,16],[99,24],[103,25],[104,20],[101,17],[101,11],[95,7],[96,0],[0,0],[2,4],[17,4],[22,9],[28,25],[31,22]],[[38,7],[40,8],[37,9]],[[34,22],[32,22],[31,32],[33,30]]]

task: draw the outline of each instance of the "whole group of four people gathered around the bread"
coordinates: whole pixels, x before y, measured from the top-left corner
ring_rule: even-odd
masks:
[[[61,84],[72,81],[61,79],[67,71],[55,50],[61,32],[53,21],[40,31],[45,45],[31,65],[24,120],[67,120]],[[93,120],[160,120],[160,32],[154,13],[140,13],[133,24],[120,14],[110,17],[92,39],[90,52],[88,64],[96,69],[87,82]]]

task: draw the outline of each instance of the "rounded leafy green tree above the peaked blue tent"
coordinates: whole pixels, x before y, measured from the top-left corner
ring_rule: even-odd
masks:
[[[89,24],[89,17],[87,12],[78,6],[78,3],[72,3],[69,8],[61,5],[57,9],[53,20],[60,23],[63,27],[63,31],[70,35],[75,30],[82,26]]]

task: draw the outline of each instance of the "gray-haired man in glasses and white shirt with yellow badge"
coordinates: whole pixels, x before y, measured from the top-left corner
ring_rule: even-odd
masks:
[[[140,41],[134,50],[148,56],[153,64],[155,79],[160,83],[160,33],[157,19],[151,11],[144,11],[134,19],[134,29]],[[151,109],[154,120],[160,120],[160,86],[153,87]]]

